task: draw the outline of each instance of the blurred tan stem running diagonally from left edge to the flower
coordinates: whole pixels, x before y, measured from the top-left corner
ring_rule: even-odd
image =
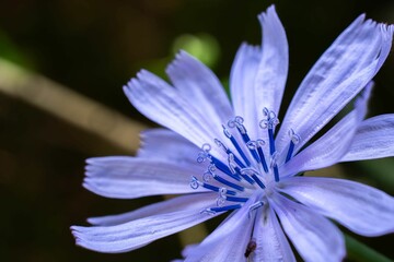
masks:
[[[147,127],[45,76],[0,58],[0,92],[99,135],[123,152],[136,152]]]

